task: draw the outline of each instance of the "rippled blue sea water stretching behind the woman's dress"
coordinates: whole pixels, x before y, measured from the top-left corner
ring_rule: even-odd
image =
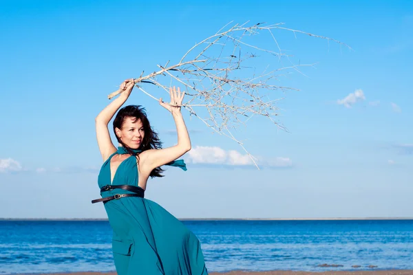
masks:
[[[210,272],[413,270],[413,220],[183,222]],[[114,271],[111,238],[108,221],[0,221],[0,274]]]

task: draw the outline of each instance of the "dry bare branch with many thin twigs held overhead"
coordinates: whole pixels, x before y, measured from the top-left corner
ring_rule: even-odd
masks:
[[[284,72],[286,74],[289,74],[289,71],[300,72],[299,67],[312,66],[294,65],[290,61],[291,56],[284,53],[279,46],[273,32],[288,30],[294,34],[305,34],[334,41],[346,47],[348,45],[324,36],[284,28],[282,27],[283,23],[275,25],[257,23],[251,26],[247,26],[247,23],[235,24],[228,30],[222,31],[229,25],[227,24],[216,34],[191,47],[176,65],[169,65],[168,61],[166,65],[158,65],[160,68],[158,72],[153,72],[147,76],[142,76],[142,73],[134,81],[141,91],[158,100],[158,98],[145,91],[143,85],[156,85],[165,91],[169,91],[169,86],[162,84],[162,80],[163,82],[171,79],[175,80],[179,83],[178,85],[184,87],[181,90],[185,90],[185,98],[188,99],[182,106],[215,132],[226,135],[240,144],[257,166],[254,157],[246,151],[242,142],[233,136],[231,130],[236,129],[240,124],[244,124],[253,115],[268,118],[276,126],[285,130],[284,126],[276,121],[279,115],[279,108],[276,103],[281,98],[274,98],[276,95],[273,91],[297,89],[277,85],[277,81],[281,76],[284,76]],[[270,46],[271,49],[271,45],[268,44],[272,44],[275,50],[253,45],[254,41],[250,42],[253,36],[263,31],[268,33],[273,41],[273,43],[266,43],[266,46]],[[266,63],[275,63],[271,61],[271,58],[276,58],[277,63],[284,58],[289,65],[269,69],[271,66],[268,64],[262,72],[256,72],[258,58],[264,58]],[[167,77],[166,80],[165,76]],[[160,77],[163,77],[162,80],[158,80]],[[121,92],[120,89],[114,91],[109,94],[108,98],[111,99]],[[200,115],[202,112],[206,113],[207,117],[202,117]]]

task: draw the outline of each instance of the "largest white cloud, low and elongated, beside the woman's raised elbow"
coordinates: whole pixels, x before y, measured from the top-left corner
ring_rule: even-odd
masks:
[[[224,164],[229,166],[253,166],[251,157],[235,150],[225,151],[218,146],[195,146],[187,153],[186,161],[192,164]],[[257,157],[258,166],[290,167],[293,161],[288,157],[263,159]]]

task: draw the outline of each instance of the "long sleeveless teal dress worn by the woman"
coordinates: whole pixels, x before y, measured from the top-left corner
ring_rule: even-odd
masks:
[[[127,153],[118,147],[118,154]],[[98,175],[102,188],[111,184],[110,160]],[[178,160],[167,165],[187,170]],[[125,159],[116,170],[112,185],[138,186],[136,158]],[[114,189],[102,197],[131,193]],[[207,275],[200,241],[185,225],[158,203],[142,197],[123,197],[105,201],[105,210],[113,229],[112,250],[118,275]]]

